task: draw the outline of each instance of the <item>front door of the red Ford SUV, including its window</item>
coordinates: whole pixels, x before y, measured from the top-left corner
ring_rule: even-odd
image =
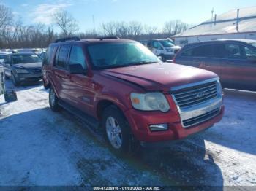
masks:
[[[83,66],[85,74],[70,74],[69,96],[72,98],[72,105],[83,112],[90,114],[93,111],[94,84],[91,77],[87,75],[88,64],[86,62],[86,52],[78,45],[73,45],[69,56],[69,66],[80,64]]]

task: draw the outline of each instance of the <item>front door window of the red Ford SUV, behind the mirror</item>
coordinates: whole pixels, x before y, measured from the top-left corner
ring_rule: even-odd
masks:
[[[69,65],[78,63],[83,66],[83,69],[87,69],[86,57],[83,54],[82,48],[78,46],[72,46],[69,58]]]

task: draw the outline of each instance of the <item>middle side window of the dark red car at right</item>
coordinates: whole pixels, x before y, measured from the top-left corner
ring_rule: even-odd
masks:
[[[239,59],[243,58],[241,49],[238,44],[225,44],[224,45],[224,58]]]

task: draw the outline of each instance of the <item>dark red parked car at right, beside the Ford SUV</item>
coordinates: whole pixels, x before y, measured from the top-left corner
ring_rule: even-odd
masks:
[[[225,39],[185,45],[174,63],[214,71],[222,85],[256,90],[256,41]]]

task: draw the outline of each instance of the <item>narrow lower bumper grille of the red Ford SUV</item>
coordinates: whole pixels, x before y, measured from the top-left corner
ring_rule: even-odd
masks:
[[[210,120],[211,118],[215,117],[217,114],[219,114],[219,111],[220,111],[219,108],[217,108],[217,109],[214,109],[211,112],[207,112],[207,113],[201,114],[197,117],[192,117],[188,120],[184,120],[183,125],[184,125],[185,128],[187,128],[189,126],[197,125],[201,122],[205,122],[205,121]]]

